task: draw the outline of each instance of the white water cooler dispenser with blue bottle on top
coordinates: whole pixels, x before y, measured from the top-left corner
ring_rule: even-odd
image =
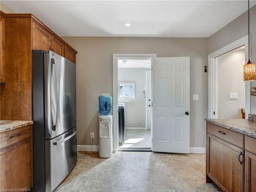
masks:
[[[99,156],[109,158],[113,152],[112,97],[99,96]]]

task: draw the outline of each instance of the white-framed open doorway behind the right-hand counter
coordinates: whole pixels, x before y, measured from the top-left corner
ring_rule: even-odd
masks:
[[[248,118],[250,82],[243,80],[248,35],[208,55],[208,118]]]

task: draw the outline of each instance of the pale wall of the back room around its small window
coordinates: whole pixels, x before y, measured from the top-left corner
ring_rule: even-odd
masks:
[[[150,69],[118,69],[118,81],[135,82],[135,99],[120,99],[126,103],[126,127],[145,127],[145,71]]]

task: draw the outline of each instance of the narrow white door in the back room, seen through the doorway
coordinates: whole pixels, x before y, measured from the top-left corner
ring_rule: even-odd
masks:
[[[151,71],[145,71],[145,108],[146,108],[146,129],[151,129],[152,122],[152,95],[151,95]]]

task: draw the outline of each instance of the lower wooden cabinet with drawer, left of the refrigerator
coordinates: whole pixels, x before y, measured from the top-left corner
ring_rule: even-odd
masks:
[[[33,186],[32,125],[0,134],[0,188]]]

